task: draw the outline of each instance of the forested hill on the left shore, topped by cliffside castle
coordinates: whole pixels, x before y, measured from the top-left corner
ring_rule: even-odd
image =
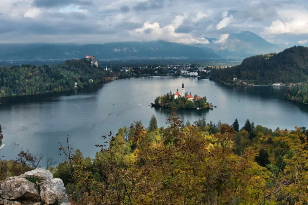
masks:
[[[0,97],[72,90],[75,82],[80,88],[87,85],[90,79],[96,83],[111,76],[111,72],[91,65],[91,61],[85,58],[68,60],[55,67],[1,66]]]

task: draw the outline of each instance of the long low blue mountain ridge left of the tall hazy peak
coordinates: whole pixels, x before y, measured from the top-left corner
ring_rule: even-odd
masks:
[[[189,58],[213,59],[219,55],[194,46],[164,41],[152,42],[115,42],[106,44],[46,44],[25,50],[0,54],[2,59],[71,59],[95,55],[98,59],[153,59],[153,58]],[[4,52],[2,52],[4,53]]]

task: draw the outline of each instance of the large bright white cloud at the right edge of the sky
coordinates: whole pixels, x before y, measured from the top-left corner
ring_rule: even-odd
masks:
[[[308,14],[301,10],[281,10],[279,19],[264,27],[265,34],[308,34]]]

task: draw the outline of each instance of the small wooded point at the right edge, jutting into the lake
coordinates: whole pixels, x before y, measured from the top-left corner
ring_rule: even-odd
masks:
[[[286,97],[295,102],[308,104],[308,83],[290,87],[286,93]]]

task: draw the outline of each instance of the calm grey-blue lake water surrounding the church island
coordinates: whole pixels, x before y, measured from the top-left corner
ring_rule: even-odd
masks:
[[[196,78],[127,78],[69,93],[0,98],[5,144],[0,153],[4,159],[16,159],[23,148],[61,161],[57,142],[70,135],[74,148],[93,157],[99,150],[95,144],[103,143],[99,137],[109,131],[115,134],[118,128],[137,120],[147,127],[153,114],[158,126],[166,126],[168,112],[148,105],[158,95],[180,90],[182,80],[185,92],[207,96],[218,107],[211,111],[178,111],[184,122],[205,115],[207,121],[215,123],[221,120],[231,124],[237,118],[240,127],[247,118],[272,129],[308,126],[308,106],[286,101],[283,87],[230,87]]]

